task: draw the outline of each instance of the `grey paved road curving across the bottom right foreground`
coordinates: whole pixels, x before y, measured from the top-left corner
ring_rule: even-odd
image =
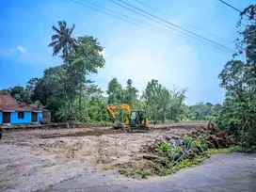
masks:
[[[103,171],[56,184],[45,191],[255,192],[256,153],[218,154],[200,166],[186,168],[175,175],[141,181]]]

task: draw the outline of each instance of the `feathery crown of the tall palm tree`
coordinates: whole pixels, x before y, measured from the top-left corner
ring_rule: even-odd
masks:
[[[64,62],[68,64],[68,56],[70,53],[74,52],[74,48],[77,44],[77,40],[72,38],[74,24],[72,24],[71,28],[68,28],[65,21],[58,21],[57,23],[59,28],[53,25],[53,30],[56,34],[52,36],[52,42],[48,46],[53,47],[53,56],[58,55],[59,52],[62,51]]]

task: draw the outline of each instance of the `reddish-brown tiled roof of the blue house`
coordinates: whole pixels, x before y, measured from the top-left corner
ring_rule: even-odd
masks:
[[[3,110],[41,111],[41,108],[37,104],[19,102],[9,94],[0,94],[0,111]]]

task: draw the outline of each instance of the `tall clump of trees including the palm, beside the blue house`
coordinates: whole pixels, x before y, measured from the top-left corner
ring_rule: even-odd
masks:
[[[53,120],[109,121],[103,91],[87,78],[104,67],[103,47],[93,37],[72,38],[73,29],[65,21],[53,26],[56,34],[49,46],[53,56],[62,52],[64,64],[46,69],[40,79],[32,78],[25,89],[12,88],[12,93],[22,101],[40,102],[52,111]]]

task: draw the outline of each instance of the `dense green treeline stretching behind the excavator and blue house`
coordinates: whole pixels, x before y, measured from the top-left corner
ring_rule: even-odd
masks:
[[[142,95],[133,86],[131,79],[123,88],[117,78],[113,78],[104,91],[93,84],[84,85],[82,97],[77,94],[72,103],[72,113],[69,113],[69,103],[61,78],[61,66],[46,69],[41,78],[32,78],[25,88],[16,86],[1,90],[10,93],[22,102],[33,102],[50,109],[54,120],[80,120],[84,122],[110,121],[105,110],[106,104],[129,104],[132,109],[145,110],[147,117],[155,121],[165,120],[211,120],[221,109],[221,104],[199,103],[188,106],[184,104],[185,89],[168,90],[152,79]],[[64,74],[64,73],[63,73]],[[79,90],[77,90],[79,93]],[[81,99],[81,101],[80,101]],[[125,113],[117,110],[120,118]]]

